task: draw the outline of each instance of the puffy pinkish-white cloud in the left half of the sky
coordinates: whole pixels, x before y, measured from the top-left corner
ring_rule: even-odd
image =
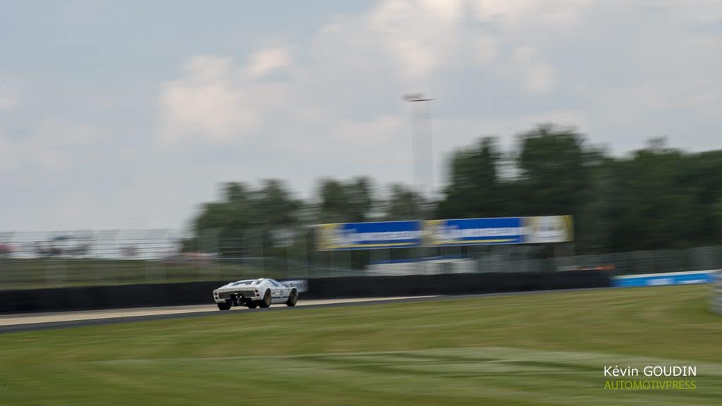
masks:
[[[280,108],[291,87],[259,79],[289,74],[290,67],[286,46],[257,51],[245,66],[229,58],[193,56],[180,79],[162,84],[157,139],[165,145],[193,139],[228,144],[259,134],[265,116]]]

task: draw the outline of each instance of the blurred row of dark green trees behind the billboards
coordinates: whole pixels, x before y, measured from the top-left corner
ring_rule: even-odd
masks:
[[[614,157],[575,129],[544,125],[518,135],[508,151],[481,137],[456,150],[447,171],[430,201],[366,177],[323,178],[307,201],[279,180],[225,183],[193,218],[195,237],[184,246],[202,248],[207,230],[221,241],[260,238],[272,249],[279,232],[318,223],[567,214],[579,254],[722,243],[722,150],[690,153],[651,139]]]

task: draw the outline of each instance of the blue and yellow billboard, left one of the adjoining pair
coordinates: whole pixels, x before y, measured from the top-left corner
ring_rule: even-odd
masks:
[[[409,248],[421,245],[421,222],[322,224],[316,228],[318,249]]]

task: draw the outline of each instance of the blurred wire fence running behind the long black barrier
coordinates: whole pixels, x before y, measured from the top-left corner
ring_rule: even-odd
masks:
[[[280,236],[204,230],[0,233],[0,289],[458,272],[615,269],[619,275],[722,269],[722,247],[574,255],[573,245],[316,251],[310,229]],[[186,243],[184,243],[186,241]]]

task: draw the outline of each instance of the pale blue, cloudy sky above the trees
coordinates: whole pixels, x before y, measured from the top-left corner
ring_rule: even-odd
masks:
[[[219,183],[430,188],[536,124],[722,148],[720,0],[0,0],[0,231],[186,228]]]

